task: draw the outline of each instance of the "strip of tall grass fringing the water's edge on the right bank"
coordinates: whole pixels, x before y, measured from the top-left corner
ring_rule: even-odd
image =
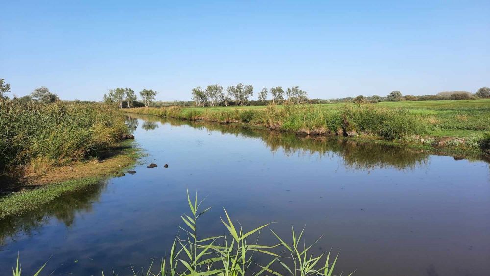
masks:
[[[374,104],[322,108],[318,105],[268,106],[265,109],[132,108],[129,112],[221,123],[249,123],[306,134],[368,134],[399,139],[429,132],[430,124],[406,109]]]

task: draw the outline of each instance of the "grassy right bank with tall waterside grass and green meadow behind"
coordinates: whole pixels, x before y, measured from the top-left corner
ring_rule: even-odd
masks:
[[[271,129],[384,139],[419,148],[488,151],[490,100],[205,108],[132,108],[127,112]]]

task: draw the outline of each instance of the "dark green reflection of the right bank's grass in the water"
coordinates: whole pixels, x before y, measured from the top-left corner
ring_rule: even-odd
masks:
[[[393,167],[397,169],[413,169],[417,166],[427,165],[429,154],[420,150],[407,149],[396,146],[383,145],[373,142],[357,142],[337,137],[317,136],[300,138],[294,133],[283,133],[259,128],[242,127],[240,125],[222,125],[204,121],[183,121],[172,118],[137,115],[129,116],[128,120],[144,119],[145,130],[158,127],[156,122],[170,124],[174,127],[182,125],[196,129],[219,131],[222,134],[233,134],[242,138],[260,138],[265,145],[276,153],[281,150],[286,155],[314,155],[320,158],[339,155],[346,168],[356,170],[372,170],[375,168]],[[145,125],[155,125],[145,128]]]

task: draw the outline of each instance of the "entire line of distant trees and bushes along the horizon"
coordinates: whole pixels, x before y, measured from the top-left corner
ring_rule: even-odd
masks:
[[[0,100],[8,100],[6,95],[10,91],[10,84],[5,82],[5,79],[0,78]],[[139,92],[142,103],[138,102],[138,98],[134,90],[130,88],[109,89],[109,93],[104,94],[103,101],[108,104],[116,103],[120,108],[146,106],[155,100],[157,91],[152,89],[143,89]],[[272,87],[270,90],[262,88],[258,93],[258,101],[250,100],[253,96],[253,86],[238,83],[237,85],[228,86],[226,90],[219,84],[208,85],[206,89],[200,86],[192,89],[192,100],[195,106],[228,106],[228,105],[264,105],[267,102],[272,104],[301,104],[301,103],[329,103],[329,102],[354,102],[354,103],[376,103],[380,101],[422,101],[422,100],[472,100],[490,98],[490,88],[482,87],[475,93],[467,91],[445,91],[435,95],[402,95],[400,91],[392,91],[387,96],[381,97],[378,95],[357,97],[346,97],[340,99],[308,99],[307,93],[298,86],[287,88],[286,91],[281,87]],[[270,100],[268,100],[270,95]],[[17,97],[14,95],[13,100],[19,102],[40,102],[51,103],[60,100],[56,93],[49,91],[48,88],[42,86],[34,89],[31,94]],[[75,100],[79,102],[80,100]],[[176,105],[188,105],[191,102],[175,101]]]

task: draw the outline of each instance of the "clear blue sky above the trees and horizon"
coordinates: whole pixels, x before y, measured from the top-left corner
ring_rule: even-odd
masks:
[[[243,82],[328,99],[490,86],[488,0],[0,1],[0,77],[18,96],[46,86],[101,100],[130,87],[190,100],[195,86]]]

